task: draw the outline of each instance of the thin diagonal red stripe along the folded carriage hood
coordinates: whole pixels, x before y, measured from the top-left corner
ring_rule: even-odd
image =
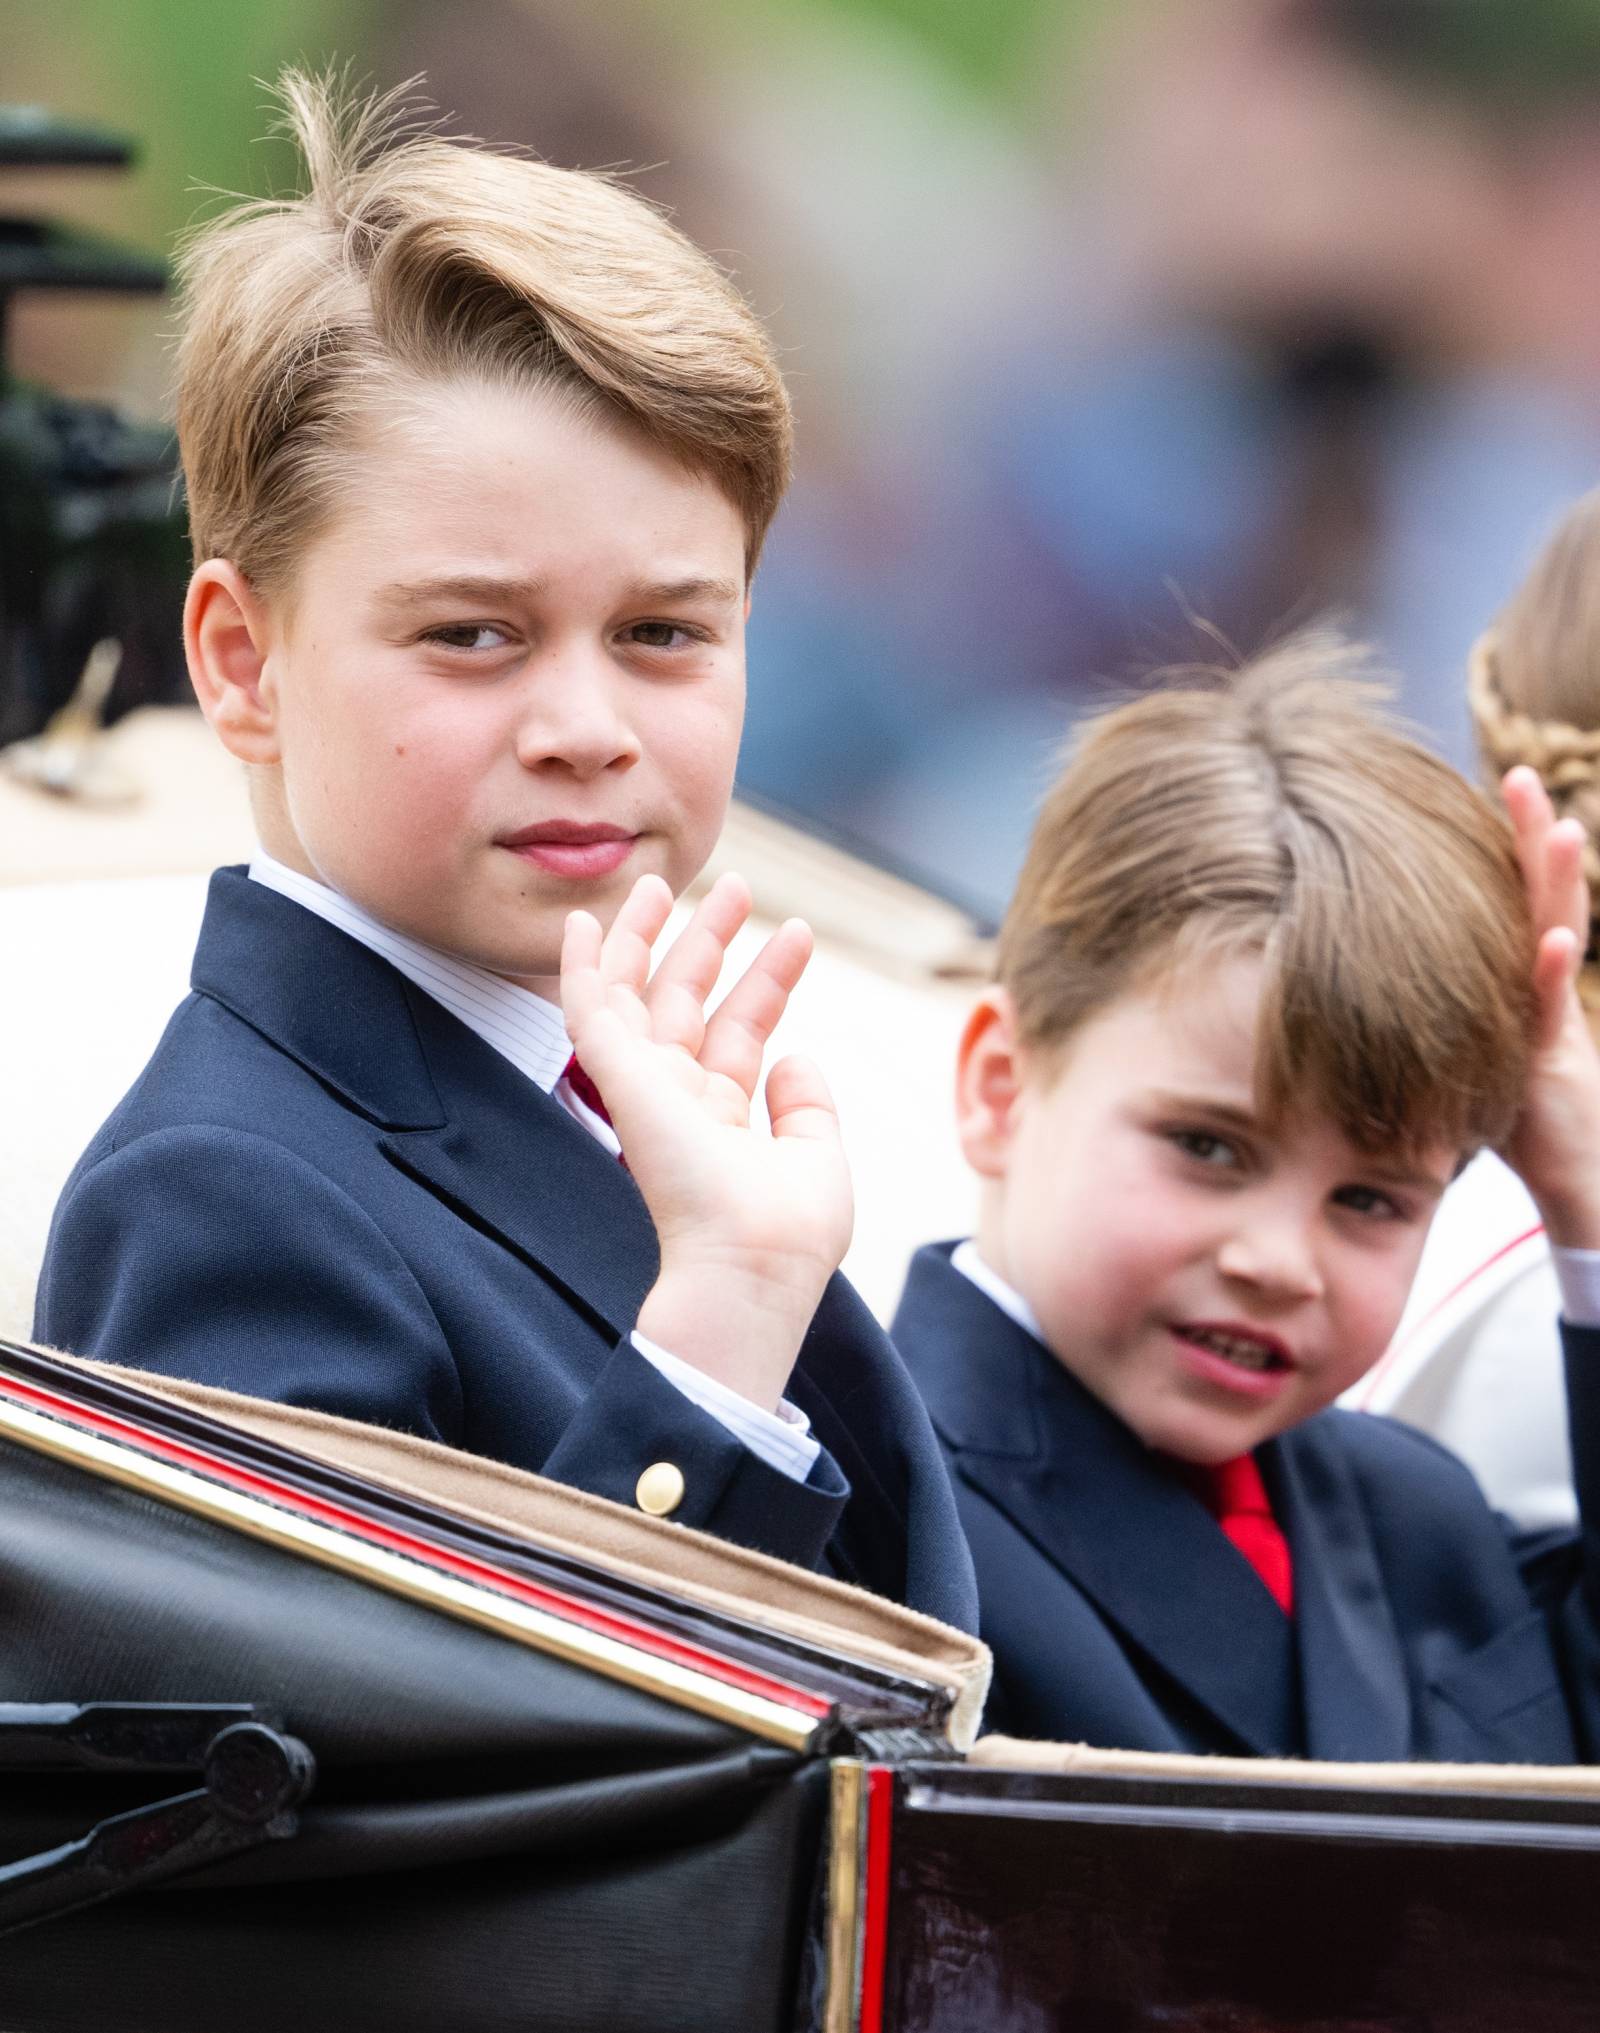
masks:
[[[577,1596],[563,1596],[555,1588],[545,1588],[539,1582],[527,1582],[522,1576],[496,1567],[490,1561],[472,1559],[470,1555],[455,1553],[449,1547],[417,1539],[413,1533],[380,1525],[376,1519],[366,1519],[358,1511],[346,1511],[344,1504],[311,1496],[307,1490],[297,1490],[287,1482],[274,1482],[270,1476],[262,1476],[256,1470],[238,1468],[234,1462],[224,1462],[220,1456],[205,1454],[201,1447],[189,1445],[187,1441],[167,1439],[165,1433],[152,1433],[132,1421],[116,1419],[89,1405],[79,1405],[75,1399],[57,1397],[53,1391],[43,1391],[39,1384],[26,1384],[16,1376],[0,1376],[0,1393],[20,1399],[22,1403],[37,1407],[67,1425],[87,1427],[89,1431],[118,1439],[124,1445],[132,1445],[140,1454],[152,1454],[179,1468],[195,1470],[211,1482],[222,1482],[224,1486],[242,1490],[248,1496],[262,1496],[281,1511],[295,1511],[301,1517],[315,1519],[319,1525],[331,1525],[337,1531],[348,1533],[352,1539],[366,1539],[370,1545],[380,1545],[388,1553],[403,1553],[407,1559],[415,1559],[425,1567],[437,1567],[445,1574],[453,1574],[457,1580],[492,1588],[496,1594],[510,1596],[531,1608],[547,1610],[551,1616],[559,1616],[569,1624],[581,1624],[586,1630],[616,1639],[622,1645],[632,1645],[638,1651],[651,1653],[655,1659],[667,1659],[673,1665],[705,1673],[707,1679],[720,1679],[726,1687],[738,1687],[742,1693],[760,1696],[762,1700],[777,1702],[783,1708],[799,1710],[803,1716],[821,1718],[827,1716],[834,1706],[825,1696],[811,1693],[807,1687],[793,1687],[789,1681],[756,1673],[750,1667],[738,1665],[734,1659],[724,1659],[718,1653],[701,1651],[695,1645],[685,1645],[681,1639],[667,1637],[651,1624],[636,1624],[610,1610],[598,1610],[594,1604],[581,1602]]]

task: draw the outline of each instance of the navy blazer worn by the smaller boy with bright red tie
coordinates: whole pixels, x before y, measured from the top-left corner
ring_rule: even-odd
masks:
[[[893,1334],[956,1474],[990,1728],[1136,1750],[1600,1757],[1600,1332],[1567,1330],[1588,1545],[1519,1539],[1435,1441],[1326,1411],[1256,1454],[1293,1618],[949,1244],[913,1258]]]

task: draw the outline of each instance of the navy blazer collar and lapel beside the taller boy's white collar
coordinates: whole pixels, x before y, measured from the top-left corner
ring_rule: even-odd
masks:
[[[211,876],[191,982],[384,1134],[472,1226],[626,1334],[655,1283],[638,1187],[567,1110],[386,960],[242,868]]]

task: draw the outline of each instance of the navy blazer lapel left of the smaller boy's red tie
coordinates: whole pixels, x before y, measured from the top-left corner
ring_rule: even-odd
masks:
[[[956,1472],[1238,1744],[1293,1757],[1291,1620],[1171,1466],[953,1271],[945,1250],[915,1258],[895,1336],[915,1352]]]

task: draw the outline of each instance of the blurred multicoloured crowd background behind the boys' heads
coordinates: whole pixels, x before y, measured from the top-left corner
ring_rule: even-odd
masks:
[[[1086,705],[1311,614],[1466,766],[1468,646],[1600,478],[1600,0],[59,0],[0,100],[140,161],[0,213],[169,250],[293,177],[291,59],[734,270],[799,413],[744,783],[984,913]],[[159,415],[169,323],[18,299],[12,368]]]

